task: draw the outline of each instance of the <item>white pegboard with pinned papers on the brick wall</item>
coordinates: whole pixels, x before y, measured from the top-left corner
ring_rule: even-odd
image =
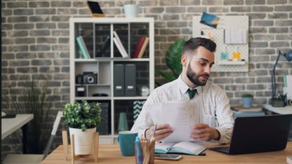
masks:
[[[215,64],[212,71],[216,72],[247,72],[248,71],[248,16],[218,16],[216,28],[202,24],[201,16],[193,17],[193,37],[204,36],[217,44]],[[233,30],[233,31],[232,31]],[[232,32],[236,32],[234,35]],[[230,40],[244,38],[241,43]]]

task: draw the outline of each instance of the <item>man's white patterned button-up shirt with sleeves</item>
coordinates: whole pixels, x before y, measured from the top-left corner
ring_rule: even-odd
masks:
[[[181,76],[156,88],[147,98],[131,131],[138,132],[139,136],[145,135],[145,130],[154,125],[147,106],[168,101],[190,100],[187,93],[188,89],[189,87],[183,82]],[[194,98],[198,96],[203,103],[203,108],[200,111],[201,123],[208,124],[211,128],[220,132],[219,142],[229,143],[234,118],[225,91],[208,81],[205,86],[197,86],[197,93]]]

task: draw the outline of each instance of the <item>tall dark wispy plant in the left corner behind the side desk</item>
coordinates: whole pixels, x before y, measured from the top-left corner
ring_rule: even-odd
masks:
[[[1,95],[2,108],[8,109],[8,114],[34,114],[28,123],[28,153],[43,153],[51,125],[48,123],[48,112],[52,107],[52,96],[45,83],[27,81],[20,91],[9,87],[8,94]],[[22,135],[20,135],[22,136]]]

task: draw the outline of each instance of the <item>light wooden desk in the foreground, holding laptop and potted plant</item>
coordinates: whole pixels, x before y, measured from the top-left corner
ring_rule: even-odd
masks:
[[[187,156],[175,160],[154,160],[154,163],[286,163],[287,156],[292,156],[292,142],[288,142],[284,151],[267,153],[249,153],[242,155],[226,155],[211,150],[205,151],[206,156]],[[65,164],[63,146],[58,146],[42,163]],[[94,163],[93,160],[79,158],[75,163]],[[135,156],[121,156],[119,145],[100,145],[98,149],[98,163],[135,163]]]

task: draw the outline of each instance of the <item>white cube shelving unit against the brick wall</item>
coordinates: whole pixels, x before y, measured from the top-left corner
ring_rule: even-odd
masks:
[[[121,57],[115,47],[114,31],[119,34],[128,55],[131,55],[140,36],[149,37],[149,44],[142,58]],[[82,59],[79,47],[75,41],[82,36],[90,59]],[[110,36],[110,46],[105,57],[95,57],[100,50],[106,36]],[[100,135],[100,144],[117,143],[119,113],[126,112],[128,127],[133,121],[133,101],[146,100],[147,96],[140,95],[140,87],[147,86],[150,93],[154,90],[154,18],[70,18],[70,102],[88,100],[106,102],[108,104],[109,125],[108,134]],[[114,64],[135,64],[136,66],[136,94],[131,97],[114,96]],[[80,84],[78,75],[92,72],[97,76],[95,84]],[[77,95],[77,88],[84,88],[84,96]],[[104,93],[107,96],[93,96],[95,93]],[[82,94],[81,94],[82,95]],[[132,112],[132,113],[131,113]]]

